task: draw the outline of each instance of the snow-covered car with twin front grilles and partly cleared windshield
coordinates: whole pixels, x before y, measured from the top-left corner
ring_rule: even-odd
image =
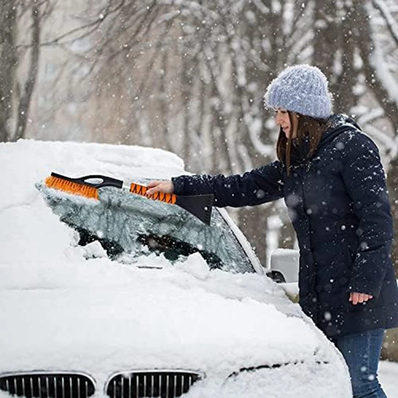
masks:
[[[340,353],[265,275],[223,209],[205,225],[115,189],[184,173],[134,146],[0,144],[0,394],[20,397],[351,397]]]

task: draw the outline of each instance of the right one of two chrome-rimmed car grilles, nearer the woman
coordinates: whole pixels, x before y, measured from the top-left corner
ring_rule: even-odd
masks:
[[[144,370],[117,373],[105,386],[110,398],[174,398],[188,392],[204,374],[183,370]]]

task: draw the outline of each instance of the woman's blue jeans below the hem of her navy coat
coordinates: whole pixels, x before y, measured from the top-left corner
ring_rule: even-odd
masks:
[[[387,398],[377,379],[383,334],[373,329],[333,340],[350,371],[354,398]]]

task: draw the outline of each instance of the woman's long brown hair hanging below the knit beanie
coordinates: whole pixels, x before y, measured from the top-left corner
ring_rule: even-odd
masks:
[[[282,130],[282,126],[279,130],[279,137],[277,141],[277,156],[280,162],[284,163],[289,176],[289,169],[291,164],[290,154],[292,151],[292,134],[293,134],[293,121],[292,113],[288,111],[290,120],[290,132],[289,138],[286,137],[285,132]],[[317,119],[311,116],[298,115],[298,126],[297,126],[297,137],[298,144],[301,144],[301,140],[304,136],[309,136],[309,151],[307,153],[307,158],[309,158],[317,148],[322,133],[326,130],[329,123],[327,119]]]

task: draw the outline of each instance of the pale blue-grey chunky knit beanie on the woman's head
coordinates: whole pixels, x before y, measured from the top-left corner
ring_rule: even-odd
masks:
[[[317,67],[290,66],[268,86],[265,105],[326,119],[332,111],[327,85],[326,76]]]

